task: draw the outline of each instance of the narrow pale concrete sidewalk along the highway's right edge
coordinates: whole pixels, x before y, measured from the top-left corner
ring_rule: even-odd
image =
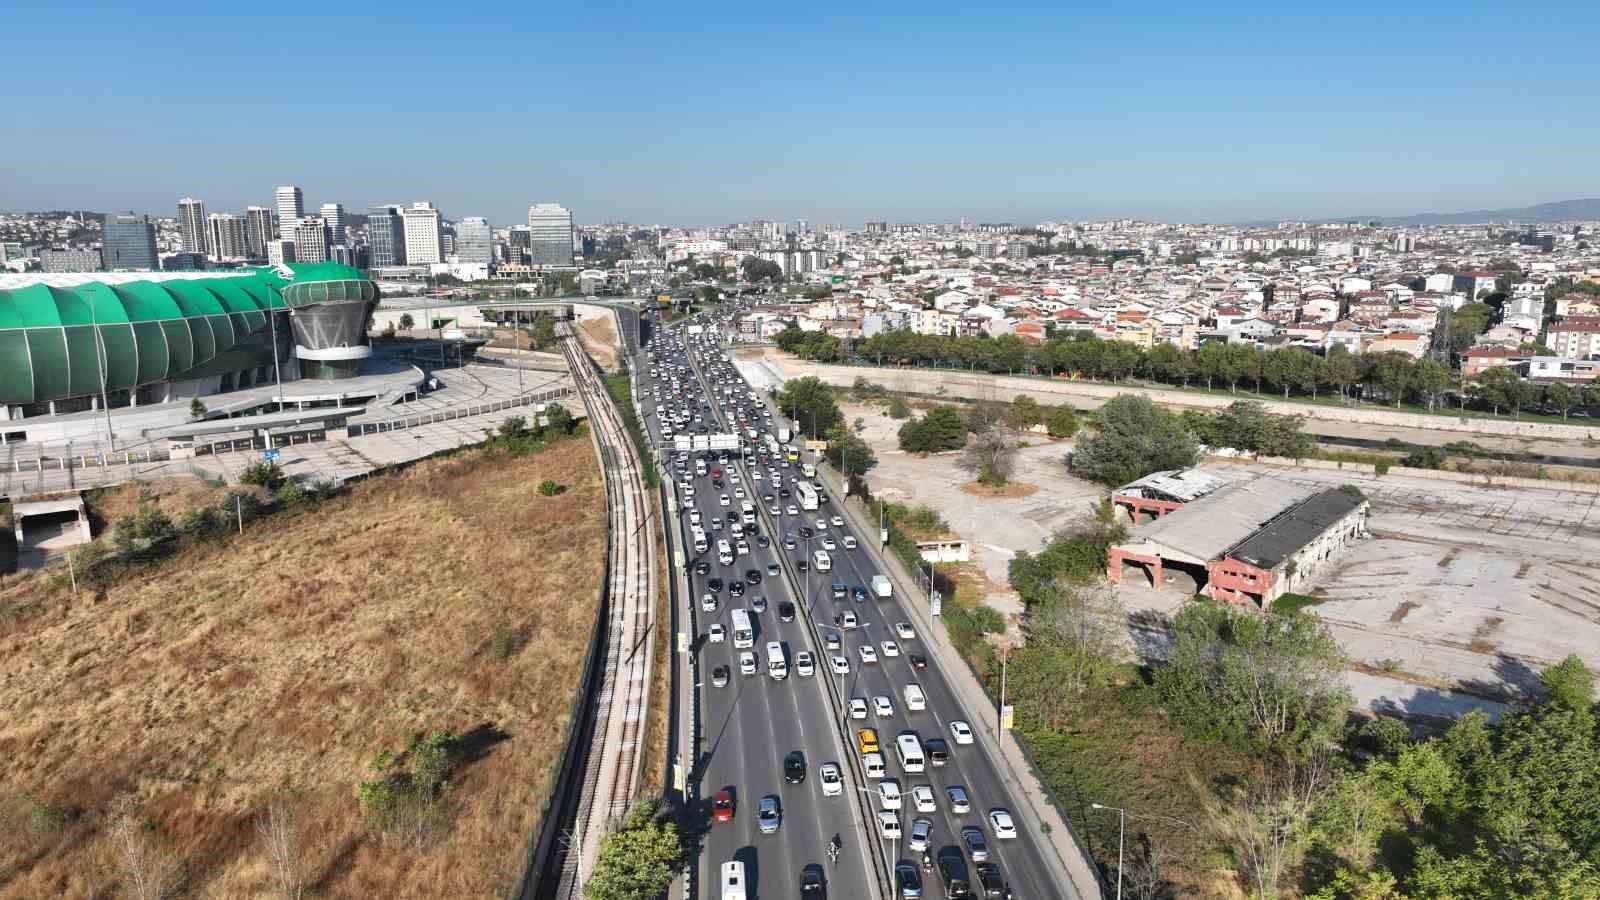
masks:
[[[827,484],[827,488],[835,496],[843,496],[845,485],[832,466],[818,466],[818,477]],[[859,496],[851,495],[845,498],[842,506],[845,516],[850,517],[851,525],[854,525],[859,533],[878,533],[877,522],[870,517],[870,511],[864,509]],[[914,615],[914,618],[922,623],[928,623],[931,617],[928,617],[928,601],[926,591],[923,589],[923,580],[906,572],[904,564],[901,564],[893,552],[883,552],[877,546],[869,549],[883,560],[885,572],[888,572],[890,578],[894,581],[894,589],[899,591],[899,596],[907,597],[907,602],[910,602],[912,597],[920,597],[920,601],[912,604],[922,607],[918,610],[920,615]],[[1048,828],[1048,834],[1042,836],[1048,839],[1042,841],[1042,846],[1051,849],[1053,852],[1043,854],[1043,857],[1051,863],[1051,868],[1056,871],[1056,878],[1059,878],[1062,884],[1070,884],[1074,894],[1080,900],[1099,898],[1099,876],[1094,862],[1078,841],[1077,831],[1072,830],[1072,825],[1051,802],[1048,788],[1035,775],[1032,765],[1027,762],[1027,757],[1022,754],[1022,748],[1018,745],[1016,737],[1011,732],[995,733],[998,709],[994,698],[984,692],[973,673],[973,668],[962,658],[955,647],[950,645],[950,639],[944,633],[944,623],[941,621],[936,626],[930,626],[928,631],[934,636],[934,641],[926,641],[925,645],[938,658],[939,671],[946,674],[950,690],[960,697],[962,705],[968,709],[990,711],[989,716],[981,716],[979,721],[973,722],[973,725],[976,725],[974,733],[989,757],[995,761],[995,769],[998,770],[1000,778],[1011,790],[1013,796],[1016,796],[1019,802],[1027,804],[1029,812]]]

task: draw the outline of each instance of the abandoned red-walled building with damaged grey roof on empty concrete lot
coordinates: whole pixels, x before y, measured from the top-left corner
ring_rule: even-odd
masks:
[[[1334,552],[1366,535],[1368,501],[1350,485],[1317,490],[1262,476],[1187,503],[1157,501],[1165,506],[1157,517],[1107,551],[1106,575],[1114,583],[1122,583],[1123,565],[1134,564],[1155,586],[1170,575],[1187,577],[1198,594],[1267,609],[1310,585]]]

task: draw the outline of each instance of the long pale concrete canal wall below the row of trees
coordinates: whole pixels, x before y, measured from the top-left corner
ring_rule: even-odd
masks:
[[[814,375],[837,388],[848,388],[856,378],[866,378],[883,384],[890,391],[910,394],[936,394],[941,388],[944,396],[968,400],[1011,400],[1018,394],[1027,394],[1042,404],[1072,404],[1078,408],[1093,408],[1118,394],[1144,394],[1165,407],[1189,408],[1221,408],[1234,400],[1261,400],[1275,413],[1296,413],[1323,421],[1341,421],[1350,424],[1379,424],[1390,428],[1424,428],[1432,431],[1450,431],[1461,434],[1499,434],[1509,437],[1554,437],[1563,440],[1600,440],[1600,424],[1560,424],[1514,420],[1483,420],[1469,416],[1443,416],[1426,413],[1403,413],[1386,410],[1376,405],[1365,407],[1322,407],[1312,404],[1294,404],[1274,400],[1264,396],[1240,394],[1189,394],[1186,391],[1163,391],[1160,388],[1138,388],[1133,384],[1099,384],[1090,381],[1070,381],[1066,378],[1022,378],[1010,375],[982,375],[950,368],[875,368],[856,365],[821,365],[800,359],[784,357],[781,368],[789,378]]]

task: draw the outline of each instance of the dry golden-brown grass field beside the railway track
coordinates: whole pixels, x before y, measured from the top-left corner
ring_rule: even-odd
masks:
[[[498,895],[550,790],[603,535],[578,437],[421,463],[99,597],[0,583],[0,897],[270,897],[285,868],[307,897]],[[435,730],[475,740],[429,828],[370,828],[368,764]]]

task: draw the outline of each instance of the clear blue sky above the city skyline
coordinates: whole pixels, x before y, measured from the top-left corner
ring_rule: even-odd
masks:
[[[6,14],[0,208],[226,211],[288,183],[502,224],[534,200],[712,224],[1600,195],[1600,3],[133,6]]]

